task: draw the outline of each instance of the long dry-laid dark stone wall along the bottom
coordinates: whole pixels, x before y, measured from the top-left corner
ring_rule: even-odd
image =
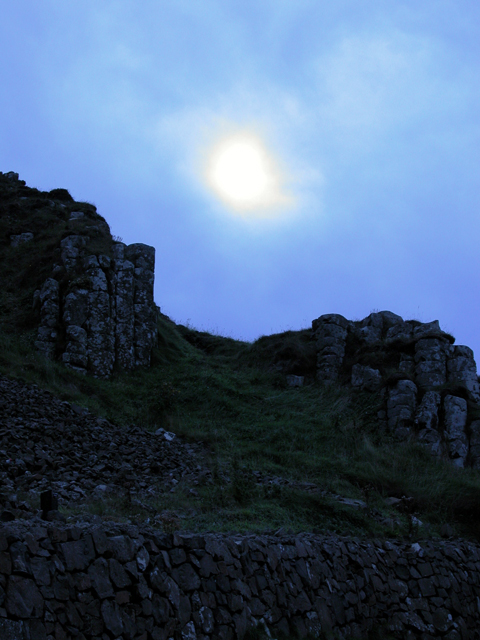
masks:
[[[480,638],[480,547],[165,534],[132,525],[4,525],[0,637],[60,640],[271,637]]]

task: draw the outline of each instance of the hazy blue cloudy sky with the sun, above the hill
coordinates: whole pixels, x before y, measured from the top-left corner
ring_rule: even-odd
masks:
[[[153,245],[176,322],[389,310],[480,359],[476,0],[16,0],[0,57],[0,171]]]

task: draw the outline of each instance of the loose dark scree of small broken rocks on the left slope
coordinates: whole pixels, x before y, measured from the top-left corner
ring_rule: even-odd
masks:
[[[210,472],[202,465],[207,455],[202,445],[184,444],[179,437],[167,441],[137,427],[120,428],[34,385],[2,377],[0,398],[0,437],[5,451],[0,459],[0,480],[10,487],[12,495],[21,488],[38,500],[38,507],[40,494],[46,490],[57,495],[61,509],[67,502],[81,504],[95,496],[103,500],[112,493],[129,496],[135,491],[141,499],[143,491],[149,496],[169,492],[173,474],[186,480],[203,477],[204,482],[209,477]],[[138,460],[135,473],[126,463],[118,464],[118,456],[127,459],[132,451]],[[125,486],[127,477],[129,488]],[[95,490],[101,486],[104,491]],[[2,506],[12,518],[19,515],[19,509],[11,503],[0,503]],[[48,519],[52,514],[62,518],[52,506],[45,507]],[[95,546],[101,544],[99,536],[94,538]],[[124,541],[118,541],[112,553],[126,553],[120,549],[122,544]],[[141,551],[136,560],[137,552],[133,547],[128,550],[130,560],[135,560],[141,570],[147,556]],[[73,553],[69,561],[76,562]]]

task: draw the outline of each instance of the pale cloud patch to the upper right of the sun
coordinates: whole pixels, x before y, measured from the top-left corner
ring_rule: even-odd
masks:
[[[324,130],[363,152],[454,108],[458,83],[442,77],[437,54],[433,40],[400,31],[344,37],[314,63]]]

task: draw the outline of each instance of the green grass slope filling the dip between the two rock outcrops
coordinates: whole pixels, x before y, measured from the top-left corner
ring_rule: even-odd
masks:
[[[256,343],[196,332],[164,316],[158,327],[153,366],[117,374],[110,381],[77,375],[44,360],[33,350],[33,331],[0,334],[0,371],[35,382],[119,425],[163,427],[206,443],[214,482],[197,487],[196,497],[190,494],[192,487],[181,482],[174,494],[148,503],[157,514],[178,513],[179,528],[283,527],[292,532],[406,536],[408,517],[384,503],[388,496],[406,495],[414,498],[416,515],[428,527],[419,536],[438,536],[442,524],[453,523],[458,535],[478,537],[480,474],[436,461],[418,445],[390,440],[376,424],[379,398],[313,382],[290,388],[284,374],[258,359]],[[291,333],[286,336],[289,343]],[[254,472],[367,500],[368,509],[357,510],[295,486],[261,485]],[[114,501],[82,508],[105,517],[151,517],[151,512]],[[394,524],[380,524],[372,513],[390,517]]]

